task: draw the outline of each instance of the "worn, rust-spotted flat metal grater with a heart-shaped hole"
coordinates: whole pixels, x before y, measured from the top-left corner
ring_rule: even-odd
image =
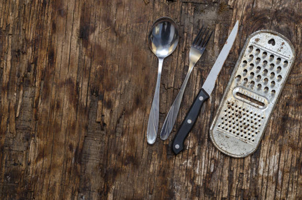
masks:
[[[281,34],[249,36],[210,127],[216,148],[235,158],[256,151],[294,59],[293,44]]]

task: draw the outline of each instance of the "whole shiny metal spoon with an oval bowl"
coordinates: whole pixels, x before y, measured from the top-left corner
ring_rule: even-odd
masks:
[[[153,144],[156,139],[159,116],[159,85],[162,63],[165,57],[170,55],[176,48],[179,40],[177,25],[169,17],[157,19],[149,34],[149,46],[158,58],[158,73],[156,87],[151,106],[147,127],[147,141]]]

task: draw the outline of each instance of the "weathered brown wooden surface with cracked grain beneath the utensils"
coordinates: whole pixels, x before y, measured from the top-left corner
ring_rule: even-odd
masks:
[[[302,2],[299,0],[0,0],[0,199],[302,199]],[[157,73],[147,45],[170,16],[180,41],[165,59],[160,123],[185,78],[201,24],[214,37],[196,64],[174,131],[147,145]],[[184,119],[236,20],[240,29],[211,98],[175,157]],[[259,149],[220,153],[209,124],[243,44],[271,29],[296,61]]]

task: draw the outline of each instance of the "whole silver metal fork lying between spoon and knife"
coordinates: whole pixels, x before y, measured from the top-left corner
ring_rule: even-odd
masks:
[[[183,99],[184,91],[185,91],[187,82],[189,80],[190,74],[192,72],[192,69],[195,66],[196,62],[201,57],[201,55],[203,54],[205,47],[213,34],[213,31],[211,31],[210,35],[209,35],[209,32],[210,32],[210,30],[207,31],[207,27],[205,27],[203,29],[203,26],[202,26],[200,31],[198,32],[197,36],[193,40],[193,43],[191,44],[190,53],[189,53],[189,70],[186,75],[185,81],[183,82],[183,85],[182,85],[180,91],[178,92],[178,95],[177,95],[176,99],[174,100],[174,102],[169,110],[169,113],[163,123],[163,126],[161,128],[160,138],[162,140],[166,140],[173,129],[173,126],[175,124],[175,121],[176,121],[176,118],[178,115],[179,107],[180,107],[180,104]]]

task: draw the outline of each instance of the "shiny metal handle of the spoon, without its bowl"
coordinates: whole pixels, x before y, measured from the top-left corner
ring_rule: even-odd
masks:
[[[147,127],[147,142],[148,144],[153,144],[156,139],[157,129],[158,129],[158,116],[159,116],[159,86],[160,86],[160,76],[162,68],[163,59],[158,59],[158,73],[156,80],[156,87],[153,97],[153,102],[149,114],[148,127]]]

